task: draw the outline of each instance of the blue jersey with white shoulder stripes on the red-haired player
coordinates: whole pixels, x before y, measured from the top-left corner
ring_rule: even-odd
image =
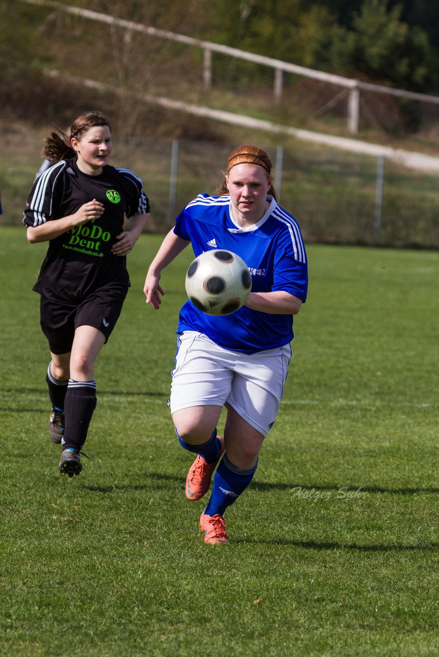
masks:
[[[174,233],[192,242],[195,257],[215,248],[232,251],[247,263],[252,292],[283,290],[306,300],[307,257],[296,219],[272,198],[255,224],[242,228],[232,217],[230,196],[199,194],[176,218]],[[255,353],[288,344],[293,315],[242,306],[230,315],[207,315],[189,300],[180,311],[177,332],[196,330],[232,351]]]

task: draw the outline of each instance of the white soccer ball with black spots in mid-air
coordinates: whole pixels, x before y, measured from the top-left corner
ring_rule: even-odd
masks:
[[[247,300],[251,274],[240,256],[214,249],[190,264],[185,285],[195,308],[208,315],[230,315]]]

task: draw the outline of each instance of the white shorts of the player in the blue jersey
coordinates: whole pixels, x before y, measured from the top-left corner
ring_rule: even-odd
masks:
[[[240,353],[218,346],[203,333],[184,331],[177,338],[170,411],[228,403],[267,436],[278,414],[290,358],[290,344]]]

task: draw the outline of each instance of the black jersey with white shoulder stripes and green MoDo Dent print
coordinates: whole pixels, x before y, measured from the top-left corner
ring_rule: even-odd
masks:
[[[126,258],[111,247],[124,218],[149,212],[142,180],[132,171],[103,167],[99,175],[82,173],[76,158],[61,160],[34,182],[23,223],[37,227],[72,215],[94,198],[104,212],[98,219],[72,227],[50,240],[34,290],[45,298],[76,305],[103,286],[129,285]]]

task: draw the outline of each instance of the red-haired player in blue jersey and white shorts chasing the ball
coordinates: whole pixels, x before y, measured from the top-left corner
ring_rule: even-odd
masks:
[[[251,272],[245,306],[219,317],[188,300],[176,331],[170,410],[180,444],[198,455],[186,479],[186,497],[201,499],[217,468],[199,522],[205,543],[228,542],[224,511],[255,474],[284,391],[293,316],[307,296],[300,229],[278,205],[271,170],[265,150],[252,145],[234,150],[217,194],[200,194],[176,218],[143,290],[146,302],[159,309],[161,271],[190,242],[195,256],[213,248],[230,250]],[[223,440],[217,422],[224,406]]]

